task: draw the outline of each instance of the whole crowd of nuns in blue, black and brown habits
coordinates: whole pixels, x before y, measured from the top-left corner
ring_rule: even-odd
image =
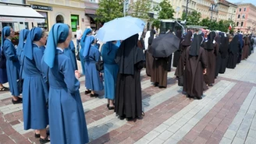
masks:
[[[166,88],[168,72],[176,67],[175,76],[183,93],[200,100],[218,74],[246,60],[256,44],[255,37],[241,33],[187,30],[183,36],[180,30],[169,31],[180,38],[179,50],[172,60],[172,55],[155,58],[151,54],[151,44],[157,37],[153,29],[126,40],[108,41],[100,47],[90,27],[84,33],[79,26],[77,29],[76,47],[70,26],[63,23],[56,23],[49,33],[38,27],[20,30],[17,47],[11,41],[12,28],[2,29],[0,90],[12,93],[12,104],[23,104],[24,129],[34,129],[34,136],[41,143],[89,141],[76,59],[80,60],[85,76],[84,94],[98,97],[98,92],[104,90],[106,108],[114,110],[120,120],[131,121],[144,117],[142,68],[146,68],[152,84]],[[102,70],[96,68],[99,61],[104,62]],[[9,83],[9,88],[4,83]]]

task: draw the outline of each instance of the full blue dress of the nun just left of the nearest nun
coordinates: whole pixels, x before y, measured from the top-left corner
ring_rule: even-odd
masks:
[[[23,119],[24,129],[44,129],[48,125],[46,99],[48,90],[44,83],[41,58],[44,47],[33,44],[33,60],[21,56],[23,61]]]

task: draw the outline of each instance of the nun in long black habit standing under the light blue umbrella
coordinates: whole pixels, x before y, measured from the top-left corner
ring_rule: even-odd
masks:
[[[115,112],[121,120],[142,118],[140,69],[144,67],[143,50],[137,47],[138,34],[122,42],[116,54],[119,74],[116,82]]]

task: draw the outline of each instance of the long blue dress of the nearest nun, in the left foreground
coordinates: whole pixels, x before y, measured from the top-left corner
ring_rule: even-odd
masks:
[[[48,65],[42,61],[44,75]],[[48,71],[49,122],[51,144],[84,144],[89,142],[80,82],[74,75],[72,61],[59,48],[55,63]],[[47,76],[47,75],[46,75]]]

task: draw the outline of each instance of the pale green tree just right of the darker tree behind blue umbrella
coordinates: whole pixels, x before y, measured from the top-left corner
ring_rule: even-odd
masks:
[[[151,11],[150,0],[137,0],[130,5],[131,16],[140,19],[149,19],[148,12]]]

